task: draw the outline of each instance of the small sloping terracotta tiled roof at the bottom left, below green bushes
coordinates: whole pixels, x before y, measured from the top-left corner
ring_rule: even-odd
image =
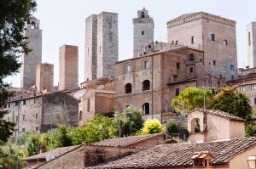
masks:
[[[77,147],[78,146],[69,146],[69,147],[61,147],[61,148],[52,149],[45,153],[40,153],[38,155],[32,155],[32,156],[26,157],[24,159],[24,161],[34,161],[34,160],[38,160],[38,159],[44,160],[44,159],[46,159],[46,155],[49,155],[50,152],[52,152],[52,154],[55,155],[55,158],[56,158],[56,157],[63,155],[64,153],[67,153],[68,151],[75,149]]]

